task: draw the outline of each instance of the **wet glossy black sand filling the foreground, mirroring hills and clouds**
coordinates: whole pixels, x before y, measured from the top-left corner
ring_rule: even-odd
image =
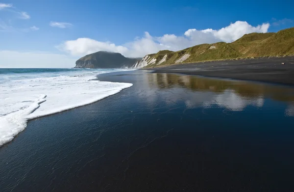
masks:
[[[0,148],[0,192],[291,192],[294,88],[176,74],[31,120]]]

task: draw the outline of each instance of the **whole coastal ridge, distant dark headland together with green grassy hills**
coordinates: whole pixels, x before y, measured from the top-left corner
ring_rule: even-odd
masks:
[[[294,55],[294,27],[276,33],[249,33],[232,43],[200,44],[180,51],[162,50],[143,58],[100,51],[78,59],[75,68],[153,68],[180,63]]]

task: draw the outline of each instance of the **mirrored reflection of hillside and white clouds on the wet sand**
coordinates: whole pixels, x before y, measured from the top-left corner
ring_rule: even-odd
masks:
[[[294,115],[293,87],[161,73],[148,74],[148,82],[151,88],[182,87],[196,92],[196,95],[191,96],[190,94],[189,98],[185,98],[188,108],[210,108],[213,105],[218,105],[228,110],[239,111],[249,105],[261,108],[264,105],[264,100],[269,98],[288,102],[285,114]]]

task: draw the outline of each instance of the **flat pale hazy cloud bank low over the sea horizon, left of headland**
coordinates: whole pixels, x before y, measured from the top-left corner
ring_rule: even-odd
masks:
[[[44,52],[0,51],[0,68],[72,68],[77,58]]]

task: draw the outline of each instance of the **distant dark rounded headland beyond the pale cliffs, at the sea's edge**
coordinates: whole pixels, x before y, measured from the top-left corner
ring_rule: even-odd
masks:
[[[79,58],[74,68],[119,69],[130,68],[142,58],[127,58],[120,53],[100,51]]]

